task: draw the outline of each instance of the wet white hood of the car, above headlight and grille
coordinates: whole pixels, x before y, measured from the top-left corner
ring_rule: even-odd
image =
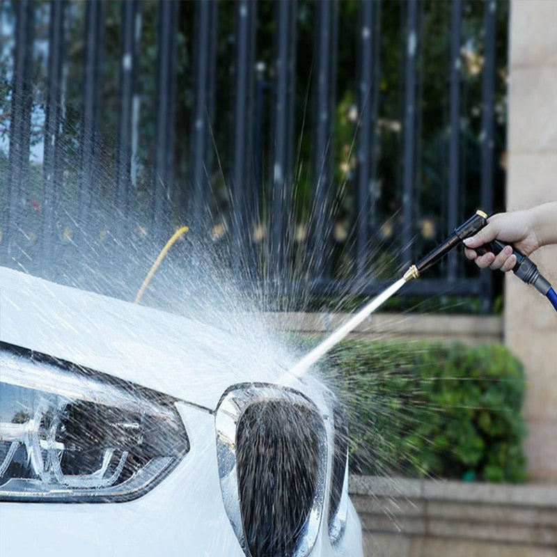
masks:
[[[287,373],[294,360],[270,341],[256,342],[187,317],[4,267],[0,340],[208,409],[234,384],[296,386]]]

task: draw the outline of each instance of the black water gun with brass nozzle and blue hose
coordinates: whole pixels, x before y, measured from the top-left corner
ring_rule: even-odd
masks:
[[[487,214],[483,211],[476,211],[472,217],[470,217],[466,222],[457,226],[453,233],[444,241],[439,244],[436,248],[432,249],[427,256],[421,258],[415,265],[411,265],[404,275],[405,281],[411,281],[414,278],[418,278],[426,269],[429,269],[435,265],[441,258],[443,258],[446,253],[448,253],[455,246],[459,245],[462,240],[475,235],[479,230],[481,230],[487,224]],[[497,254],[505,248],[506,244],[499,242],[499,240],[493,240],[483,247],[476,249],[478,253],[483,254],[487,251],[492,251]],[[546,296],[551,302],[554,308],[557,310],[557,294],[551,284],[547,281],[535,263],[527,258],[524,253],[521,253],[514,247],[512,248],[512,253],[517,257],[517,264],[512,269],[518,278],[524,281],[526,284],[533,285],[537,290],[539,290],[542,295]]]

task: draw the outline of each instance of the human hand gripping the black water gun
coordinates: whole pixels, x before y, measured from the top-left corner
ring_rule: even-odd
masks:
[[[482,269],[489,267],[501,269],[503,272],[510,271],[517,264],[517,258],[512,254],[512,246],[526,256],[540,247],[534,225],[532,214],[528,210],[494,214],[476,235],[464,240],[464,253]],[[480,255],[476,251],[476,248],[489,244],[492,240],[508,242],[512,246],[505,246],[497,255],[492,251]]]

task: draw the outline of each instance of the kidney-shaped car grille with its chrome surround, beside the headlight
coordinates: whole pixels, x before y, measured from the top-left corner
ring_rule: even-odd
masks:
[[[216,415],[223,502],[248,557],[304,557],[323,510],[327,441],[300,393],[236,387]]]

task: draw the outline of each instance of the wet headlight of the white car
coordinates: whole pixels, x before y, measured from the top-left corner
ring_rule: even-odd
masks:
[[[130,501],[189,450],[172,398],[0,346],[0,501]]]

